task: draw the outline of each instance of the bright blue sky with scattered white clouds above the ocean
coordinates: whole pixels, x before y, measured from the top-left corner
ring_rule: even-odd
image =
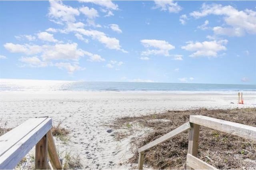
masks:
[[[256,84],[256,1],[0,1],[0,78]]]

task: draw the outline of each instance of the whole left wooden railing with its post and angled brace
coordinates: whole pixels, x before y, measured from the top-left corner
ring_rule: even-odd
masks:
[[[36,169],[62,169],[51,132],[52,119],[32,118],[0,137],[0,169],[13,169],[36,145]],[[49,160],[48,162],[48,155]]]

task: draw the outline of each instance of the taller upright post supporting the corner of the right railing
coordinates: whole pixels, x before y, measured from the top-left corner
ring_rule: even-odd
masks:
[[[198,137],[199,137],[199,128],[200,125],[191,123],[191,129],[189,131],[189,139],[188,139],[188,154],[191,154],[197,157],[198,152]],[[187,165],[187,169],[192,169],[190,166]]]

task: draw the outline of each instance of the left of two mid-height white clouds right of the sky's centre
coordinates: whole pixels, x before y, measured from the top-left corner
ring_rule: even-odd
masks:
[[[156,40],[156,39],[142,39],[140,40],[142,45],[146,48],[155,48],[148,49],[147,51],[142,51],[141,55],[164,55],[170,56],[169,50],[175,49],[175,47],[169,44],[167,41]]]

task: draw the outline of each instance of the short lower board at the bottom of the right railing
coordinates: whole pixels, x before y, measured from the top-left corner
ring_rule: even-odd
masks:
[[[187,166],[190,166],[193,169],[198,169],[198,170],[217,170],[212,165],[207,164],[206,162],[196,158],[195,156],[191,154],[187,154]]]

